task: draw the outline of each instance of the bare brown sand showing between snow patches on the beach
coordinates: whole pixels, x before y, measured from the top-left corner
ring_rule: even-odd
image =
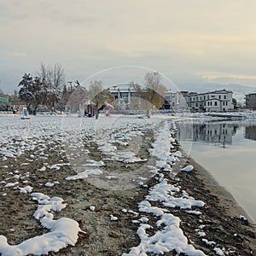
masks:
[[[143,134],[144,138],[152,136],[153,134],[150,133]],[[143,147],[137,152],[139,157],[148,156],[148,145],[148,140],[143,140]],[[177,149],[178,145],[176,148],[172,148],[172,151]],[[32,154],[34,151],[26,151],[26,154],[21,154],[15,159],[4,160],[4,166],[2,165],[0,169],[1,180],[6,180],[8,177],[11,179],[14,174],[11,171],[19,170],[20,177],[26,177],[26,185],[32,184],[33,191],[49,196],[60,196],[64,199],[67,207],[61,212],[55,212],[55,218],[72,218],[79,223],[79,227],[85,232],[79,233],[79,240],[75,246],[63,248],[58,253],[49,252],[49,255],[114,256],[129,253],[131,247],[137,247],[140,243],[137,229],[140,225],[138,219],[141,218],[148,218],[148,224],[153,227],[152,230],[148,230],[148,236],[153,236],[156,227],[152,219],[157,218],[152,218],[148,212],[140,212],[138,204],[145,199],[148,191],[158,183],[158,176],[165,177],[168,183],[172,183],[180,191],[186,191],[189,196],[196,200],[205,202],[204,207],[200,209],[200,215],[192,212],[189,214],[179,207],[168,208],[170,213],[180,218],[180,228],[183,230],[183,235],[187,237],[188,243],[193,245],[195,249],[201,250],[206,255],[256,254],[255,224],[247,217],[246,212],[237,205],[232,195],[220,187],[210,173],[192,159],[184,158],[185,162],[183,162],[183,166],[194,166],[192,172],[178,172],[177,175],[170,175],[170,172],[160,171],[141,186],[135,186],[132,189],[113,190],[95,186],[91,180],[89,182],[86,178],[70,182],[66,177],[74,175],[72,166],[63,165],[59,170],[38,172],[38,169],[42,167],[40,160],[33,160],[29,165],[21,165],[27,162]],[[44,155],[49,156],[47,159],[48,166],[55,165],[56,162],[68,162],[65,154],[60,154],[58,150],[53,148],[45,149]],[[102,159],[102,154],[93,143],[90,143],[90,156],[94,160]],[[150,158],[149,161],[152,164],[154,158]],[[117,166],[109,163],[107,166],[102,166],[102,170],[105,168],[109,171],[118,167],[119,172],[127,172],[128,167],[138,169],[144,164],[144,162],[131,165],[119,163]],[[11,168],[6,166],[11,166]],[[45,186],[44,184],[49,181],[58,181],[58,183],[51,187]],[[21,194],[19,189],[15,189],[15,186],[11,189],[6,188],[3,186],[5,183],[2,183],[0,187],[1,235],[7,237],[9,244],[19,244],[48,232],[32,216],[37,207],[36,202],[30,200],[29,195]],[[160,206],[158,202],[154,204]],[[192,207],[192,210],[195,210],[195,207]],[[112,219],[113,217],[116,219]],[[215,246],[213,247],[207,241],[214,241]],[[223,254],[218,254],[219,252],[214,250],[216,247],[224,248]],[[148,253],[148,255],[155,254]],[[164,253],[164,255],[186,254],[177,254],[174,250]]]

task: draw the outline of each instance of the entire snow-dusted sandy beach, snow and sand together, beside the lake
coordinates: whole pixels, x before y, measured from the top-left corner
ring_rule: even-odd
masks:
[[[172,119],[0,119],[2,255],[253,255],[253,227]]]

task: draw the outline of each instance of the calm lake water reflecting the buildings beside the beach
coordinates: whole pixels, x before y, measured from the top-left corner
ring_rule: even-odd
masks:
[[[204,166],[256,222],[256,119],[182,122],[185,151]]]

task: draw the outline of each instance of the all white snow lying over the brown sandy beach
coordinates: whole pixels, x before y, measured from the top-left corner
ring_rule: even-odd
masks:
[[[0,159],[4,166],[4,172],[9,180],[0,183],[6,191],[9,189],[20,189],[20,193],[32,193],[34,184],[31,183],[33,175],[43,174],[42,172],[59,172],[64,166],[78,166],[83,172],[76,172],[73,176],[66,177],[66,180],[75,182],[77,179],[88,178],[90,176],[102,176],[109,182],[114,182],[119,178],[119,173],[108,173],[104,167],[108,161],[123,162],[125,166],[135,163],[147,162],[137,155],[140,147],[141,138],[144,131],[154,131],[154,143],[152,148],[148,148],[149,157],[155,158],[154,164],[145,166],[148,168],[149,177],[156,176],[158,183],[149,189],[148,195],[138,208],[140,212],[129,209],[122,209],[125,214],[131,214],[134,223],[138,224],[137,235],[140,237],[140,244],[132,247],[130,253],[123,255],[147,255],[147,253],[162,254],[175,250],[177,253],[186,253],[187,255],[201,256],[205,255],[200,250],[196,250],[189,244],[188,239],[180,228],[181,219],[170,213],[170,208],[176,207],[183,210],[183,214],[200,215],[198,207],[203,207],[204,202],[198,201],[190,196],[186,191],[169,183],[160,172],[172,172],[172,166],[183,158],[180,151],[175,151],[176,139],[174,135],[175,127],[170,129],[171,122],[159,117],[147,119],[137,119],[134,117],[125,117],[120,119],[100,118],[86,119],[86,124],[77,117],[65,117],[64,119],[54,117],[32,117],[27,122],[20,122],[17,117],[0,116]],[[4,122],[2,122],[4,119]],[[112,123],[110,123],[112,122]],[[84,143],[83,138],[86,137]],[[87,139],[88,137],[88,139]],[[148,140],[151,138],[147,138]],[[102,153],[102,159],[90,160],[90,147],[86,143],[95,143],[97,150]],[[136,143],[134,143],[136,142]],[[134,143],[134,145],[132,144]],[[133,145],[133,146],[132,146]],[[86,148],[87,147],[87,148]],[[68,162],[60,160],[53,162],[50,159],[49,151],[65,155]],[[32,151],[32,153],[31,153]],[[28,153],[26,160],[23,160],[20,170],[29,169],[33,161],[38,161],[38,171],[15,172],[4,164],[9,159],[16,160],[21,155]],[[80,160],[80,161],[79,161]],[[26,162],[25,162],[26,161]],[[3,167],[2,166],[2,167]],[[102,170],[100,169],[102,167]],[[22,169],[23,168],[23,169]],[[190,172],[193,168],[185,166],[182,171]],[[191,169],[189,171],[189,169]],[[41,173],[40,173],[41,172]],[[70,174],[68,174],[70,175]],[[148,177],[144,173],[138,173],[139,180],[146,187]],[[21,188],[20,183],[29,183],[31,186]],[[143,181],[143,183],[142,183]],[[41,181],[42,182],[42,181]],[[35,182],[36,183],[36,182]],[[40,183],[42,189],[51,188],[58,182],[49,181]],[[38,187],[38,186],[37,186]],[[8,193],[3,193],[8,196]],[[78,234],[82,230],[79,224],[71,218],[54,219],[53,212],[59,212],[66,207],[63,199],[58,196],[49,197],[42,193],[32,193],[32,200],[38,202],[38,208],[34,212],[34,218],[38,219],[40,224],[49,230],[42,236],[35,236],[32,239],[21,242],[18,245],[9,245],[5,236],[0,236],[0,253],[3,256],[16,256],[26,254],[47,254],[50,251],[58,252],[61,248],[68,245],[75,246],[78,240]],[[157,206],[156,206],[157,205]],[[193,210],[191,208],[193,207]],[[95,214],[95,207],[90,206],[90,211]],[[186,212],[188,211],[188,212]],[[139,216],[143,213],[143,216]],[[138,217],[139,216],[139,217]],[[157,218],[156,218],[157,217]],[[10,217],[11,218],[11,217]],[[108,215],[111,221],[117,221],[119,218],[114,215]],[[148,223],[154,223],[156,230],[153,230]],[[13,227],[15,230],[15,227]],[[150,236],[148,235],[150,231]],[[203,231],[200,231],[203,232]],[[152,235],[153,234],[153,235]],[[199,236],[199,235],[198,235]],[[212,244],[213,245],[213,244]]]

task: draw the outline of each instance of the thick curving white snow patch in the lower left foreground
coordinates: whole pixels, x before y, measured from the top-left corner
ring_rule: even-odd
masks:
[[[42,255],[50,251],[58,252],[68,245],[75,245],[79,238],[79,224],[71,218],[53,219],[51,211],[61,211],[65,204],[59,197],[49,198],[42,193],[32,193],[32,200],[38,201],[38,209],[34,218],[49,230],[42,236],[34,236],[18,245],[9,245],[5,236],[0,236],[0,253],[2,256],[25,256],[27,254]]]

